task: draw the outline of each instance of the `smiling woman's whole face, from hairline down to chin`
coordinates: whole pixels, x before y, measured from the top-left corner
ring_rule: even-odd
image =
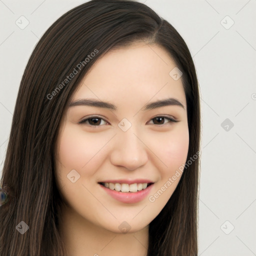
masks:
[[[169,74],[175,66],[155,44],[114,49],[73,95],[57,140],[56,179],[84,220],[138,231],[173,193],[189,143],[181,78]]]

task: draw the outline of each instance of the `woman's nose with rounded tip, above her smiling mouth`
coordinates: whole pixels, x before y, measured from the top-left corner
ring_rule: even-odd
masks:
[[[128,170],[137,169],[148,161],[147,147],[133,129],[119,131],[113,142],[110,160],[113,165]],[[142,140],[142,141],[141,141]]]

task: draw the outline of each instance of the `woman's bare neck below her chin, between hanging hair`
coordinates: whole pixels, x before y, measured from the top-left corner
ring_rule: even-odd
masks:
[[[148,226],[133,233],[115,233],[65,206],[59,230],[67,256],[146,256]]]

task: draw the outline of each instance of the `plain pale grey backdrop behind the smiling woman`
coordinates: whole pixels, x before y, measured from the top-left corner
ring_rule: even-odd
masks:
[[[83,2],[0,0],[0,170],[29,55],[60,15]],[[256,255],[256,0],[140,2],[178,30],[198,74],[199,255]],[[29,21],[24,29],[15,23],[21,15]]]

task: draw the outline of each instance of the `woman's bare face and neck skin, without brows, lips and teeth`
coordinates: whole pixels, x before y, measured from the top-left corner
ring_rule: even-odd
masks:
[[[114,49],[100,58],[84,77],[72,101],[93,98],[116,105],[116,110],[95,106],[68,108],[57,143],[56,180],[67,206],[61,211],[60,233],[68,255],[146,255],[149,223],[173,193],[180,176],[153,202],[153,196],[185,163],[189,144],[186,100],[181,78],[169,72],[176,65],[162,47],[135,43]],[[185,108],[168,105],[143,111],[143,106],[173,97]],[[99,125],[78,122],[99,116]],[[163,119],[168,116],[178,120]],[[118,123],[126,118],[131,127]],[[161,124],[163,123],[163,124]],[[92,123],[93,124],[93,123]],[[95,127],[96,126],[96,127]],[[80,177],[72,183],[67,174]],[[147,178],[150,193],[137,203],[123,203],[97,183],[106,179]],[[126,221],[130,229],[118,226]]]

